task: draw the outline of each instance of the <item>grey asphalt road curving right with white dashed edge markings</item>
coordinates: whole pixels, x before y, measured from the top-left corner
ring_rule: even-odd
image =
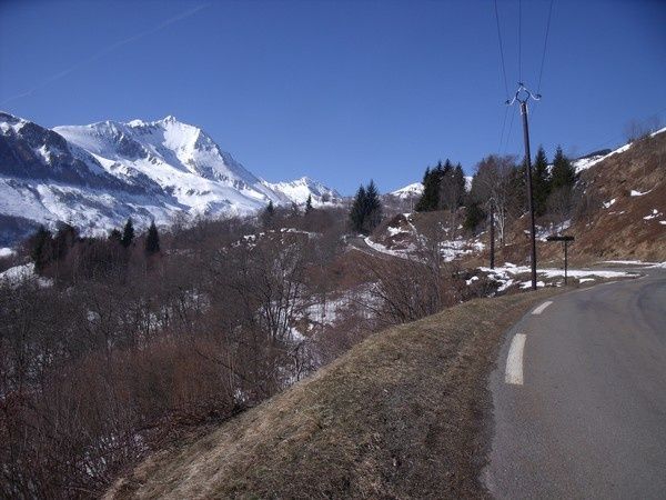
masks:
[[[666,270],[551,300],[508,332],[491,377],[486,487],[666,499]]]

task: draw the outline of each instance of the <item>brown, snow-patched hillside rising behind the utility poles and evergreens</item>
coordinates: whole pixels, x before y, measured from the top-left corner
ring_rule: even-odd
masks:
[[[665,261],[666,129],[616,150],[579,158],[573,167],[577,179],[569,207],[536,221],[539,268],[561,263],[561,244],[546,241],[557,232],[576,238],[569,247],[569,258],[576,264],[614,259]],[[486,223],[471,236],[460,226],[464,218],[464,208],[453,219],[445,211],[397,214],[366,242],[376,251],[407,257],[423,247],[423,237],[435,238],[445,260],[456,260],[463,267],[485,264],[490,248]],[[438,224],[443,226],[436,230]],[[497,262],[527,262],[528,231],[527,217],[512,219],[505,244],[496,238]]]

